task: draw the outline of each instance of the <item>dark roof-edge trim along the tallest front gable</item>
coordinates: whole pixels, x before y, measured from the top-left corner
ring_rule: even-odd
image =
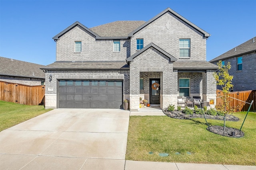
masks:
[[[190,29],[192,29],[193,31],[195,31],[196,33],[200,34],[203,37],[210,37],[210,34],[207,33],[206,31],[204,31],[203,29],[201,29],[200,27],[196,26],[194,23],[186,20],[186,18],[182,17],[181,15],[179,15],[178,13],[176,13],[175,11],[173,11],[170,8],[167,8],[166,10],[162,11],[160,14],[156,15],[154,18],[150,19],[149,21],[145,22],[144,24],[142,24],[140,27],[138,27],[137,29],[135,29],[134,31],[129,33],[129,37],[133,37],[133,35],[135,33],[137,33],[138,31],[142,30],[143,28],[147,27],[150,23],[158,20],[158,18],[160,18],[161,16],[163,16],[164,14],[169,14],[170,16],[174,17],[177,21],[179,21],[180,23],[186,25],[186,27],[189,27]],[[164,26],[169,27],[169,24],[171,23],[166,23]]]

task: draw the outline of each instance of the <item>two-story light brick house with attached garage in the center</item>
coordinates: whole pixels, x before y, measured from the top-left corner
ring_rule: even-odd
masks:
[[[46,108],[138,111],[140,97],[162,109],[177,97],[216,100],[217,66],[206,61],[209,33],[170,8],[149,21],[87,28],[78,21],[54,36],[56,62],[46,73]],[[214,106],[213,106],[214,107]]]

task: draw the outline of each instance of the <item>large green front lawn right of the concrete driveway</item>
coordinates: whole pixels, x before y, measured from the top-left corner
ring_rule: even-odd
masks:
[[[240,121],[227,121],[226,127],[240,129],[246,112],[233,115]],[[207,121],[210,125],[223,126],[223,121]],[[130,116],[126,160],[256,165],[256,113],[249,112],[242,127],[245,133],[242,138],[216,135],[206,127],[205,120],[200,118],[181,120],[167,116]],[[154,153],[149,154],[150,151]],[[158,155],[163,152],[169,156]]]

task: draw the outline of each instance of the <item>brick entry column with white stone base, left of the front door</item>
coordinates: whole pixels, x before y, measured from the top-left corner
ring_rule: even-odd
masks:
[[[130,111],[140,109],[140,70],[134,62],[130,63]]]

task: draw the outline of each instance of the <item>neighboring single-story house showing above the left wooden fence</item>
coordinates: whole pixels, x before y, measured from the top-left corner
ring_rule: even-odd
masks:
[[[43,66],[0,57],[0,81],[30,86],[44,85],[45,74],[40,70]]]

